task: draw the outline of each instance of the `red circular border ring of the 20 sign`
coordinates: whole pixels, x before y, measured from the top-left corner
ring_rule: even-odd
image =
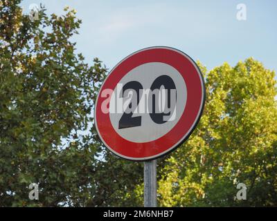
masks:
[[[109,119],[109,113],[102,113],[101,104],[107,99],[100,97],[102,90],[112,89],[130,70],[145,63],[161,62],[168,64],[179,71],[184,78],[187,88],[187,101],[184,113],[181,115],[179,122],[163,137],[157,140],[144,143],[135,143],[120,137],[114,130]],[[195,119],[199,116],[199,111],[204,105],[204,82],[195,67],[193,61],[185,57],[181,52],[171,48],[147,48],[140,50],[133,55],[123,59],[111,70],[107,79],[100,88],[100,93],[96,101],[96,128],[102,141],[116,155],[129,160],[144,160],[162,155],[164,152],[170,151],[172,146],[176,146],[180,140],[186,139],[186,135],[190,129],[195,126]],[[199,116],[200,117],[200,116]],[[98,124],[99,122],[99,124]]]

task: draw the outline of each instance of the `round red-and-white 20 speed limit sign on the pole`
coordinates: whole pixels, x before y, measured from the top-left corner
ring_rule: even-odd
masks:
[[[204,102],[204,78],[193,59],[175,48],[145,48],[105,79],[96,99],[96,129],[116,155],[153,160],[188,139]]]

